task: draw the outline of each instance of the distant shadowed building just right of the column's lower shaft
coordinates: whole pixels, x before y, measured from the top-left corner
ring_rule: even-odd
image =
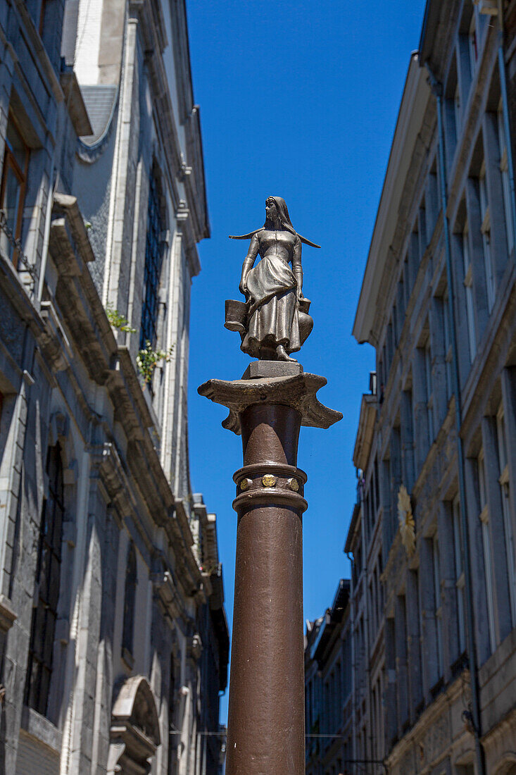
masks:
[[[353,750],[352,633],[349,580],[341,579],[332,607],[307,622],[304,694],[307,775],[341,775]]]

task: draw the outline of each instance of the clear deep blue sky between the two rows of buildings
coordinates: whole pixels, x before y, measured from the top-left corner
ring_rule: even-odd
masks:
[[[308,473],[304,515],[304,616],[332,604],[356,497],[352,455],[360,398],[374,353],[351,335],[363,270],[423,0],[188,0],[194,98],[201,126],[212,238],[199,246],[191,305],[191,483],[218,515],[225,602],[232,622],[239,437],[227,412],[197,394],[211,377],[239,379],[249,358],[226,331],[224,301],[240,298],[246,243],[227,239],[263,223],[268,195],[287,202],[303,247],[304,295],[314,330],[299,360],[328,385],[319,399],[344,418],[301,429]],[[227,693],[222,701],[222,721]]]

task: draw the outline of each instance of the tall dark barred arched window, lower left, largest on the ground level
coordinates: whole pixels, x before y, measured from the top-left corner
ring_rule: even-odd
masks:
[[[50,694],[63,539],[63,464],[59,443],[48,450],[46,474],[48,498],[43,501],[41,514],[36,567],[38,597],[33,609],[26,680],[26,704],[43,715],[46,715]]]

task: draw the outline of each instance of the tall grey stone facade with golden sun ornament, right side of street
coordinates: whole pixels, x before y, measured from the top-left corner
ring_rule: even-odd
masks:
[[[516,773],[513,18],[428,0],[356,312],[377,370],[346,539],[353,755],[375,775]]]

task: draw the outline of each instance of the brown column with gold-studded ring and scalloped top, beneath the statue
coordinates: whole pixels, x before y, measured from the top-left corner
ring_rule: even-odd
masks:
[[[302,514],[306,474],[298,468],[301,425],[329,428],[342,415],[316,398],[324,377],[277,374],[210,380],[201,395],[229,408],[222,425],[242,434],[229,683],[227,775],[304,773]],[[247,374],[247,372],[246,372]]]

